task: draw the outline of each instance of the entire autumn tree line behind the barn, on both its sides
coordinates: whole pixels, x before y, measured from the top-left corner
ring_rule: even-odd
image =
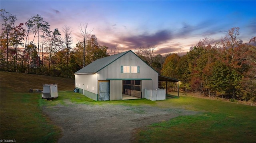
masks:
[[[51,31],[40,15],[25,23],[16,21],[15,15],[1,9],[1,71],[74,78],[74,72],[82,67],[116,52],[116,48],[108,51],[107,46],[99,45],[88,24],[80,25],[82,39],[71,47],[70,26],[62,27],[61,35],[57,28]],[[156,45],[134,51],[160,74],[179,79],[184,92],[256,101],[256,37],[243,43],[238,35],[239,27],[233,27],[221,41],[206,37],[186,55],[155,55]]]

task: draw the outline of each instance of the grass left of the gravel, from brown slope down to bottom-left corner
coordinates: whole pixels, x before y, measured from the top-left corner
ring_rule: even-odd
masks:
[[[36,74],[1,72],[0,108],[1,139],[16,142],[51,143],[61,135],[59,127],[42,113],[39,93],[28,93],[30,88],[42,89],[44,83],[58,83],[58,90],[72,90],[74,80]]]

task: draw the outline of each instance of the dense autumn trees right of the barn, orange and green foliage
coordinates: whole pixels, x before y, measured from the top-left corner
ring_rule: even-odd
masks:
[[[206,37],[186,55],[168,55],[162,75],[181,80],[184,92],[255,102],[256,37],[243,43],[239,34],[239,27],[233,27],[218,42]]]

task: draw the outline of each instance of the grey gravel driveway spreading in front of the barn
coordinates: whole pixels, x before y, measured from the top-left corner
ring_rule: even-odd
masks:
[[[198,112],[153,106],[73,104],[44,107],[62,128],[59,143],[129,143],[132,131],[152,123]]]

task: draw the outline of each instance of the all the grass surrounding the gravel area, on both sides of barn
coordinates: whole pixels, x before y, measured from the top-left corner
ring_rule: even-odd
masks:
[[[58,83],[59,98],[49,102],[42,100],[38,93],[28,93],[30,88],[42,89],[42,83]],[[61,137],[61,129],[42,113],[42,106],[69,106],[67,101],[71,101],[76,104],[102,106],[150,105],[202,112],[195,116],[180,116],[136,129],[133,137],[135,143],[256,141],[255,106],[184,96],[171,96],[172,98],[157,102],[146,99],[97,102],[72,92],[73,88],[74,80],[71,79],[1,72],[1,139],[16,139],[16,142],[26,143],[56,142]]]

